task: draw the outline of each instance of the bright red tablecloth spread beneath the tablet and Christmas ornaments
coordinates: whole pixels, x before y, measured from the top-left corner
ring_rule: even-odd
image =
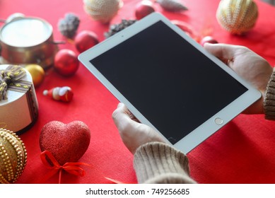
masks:
[[[124,0],[124,6],[112,23],[122,18],[134,18],[134,6],[139,0]],[[246,36],[234,36],[223,30],[216,21],[218,0],[183,1],[189,8],[185,13],[169,13],[156,5],[156,10],[170,19],[185,21],[197,33],[210,30],[218,42],[250,47],[270,64],[275,64],[275,8],[256,1],[259,7],[257,24]],[[81,19],[78,32],[93,30],[100,41],[109,25],[93,21],[83,10],[82,0],[2,0],[0,18],[21,12],[26,16],[44,18],[54,28],[55,40],[64,40],[57,29],[65,13],[76,13]],[[60,45],[60,49],[76,52],[72,43]],[[112,122],[112,112],[117,99],[80,65],[77,73],[69,78],[46,71],[45,81],[35,89],[39,103],[39,117],[35,125],[21,135],[28,151],[28,163],[17,183],[37,183],[49,170],[40,161],[39,136],[42,127],[49,121],[69,123],[74,120],[85,122],[91,131],[88,151],[79,160],[89,163],[84,177],[64,173],[63,183],[110,183],[105,177],[122,182],[136,182],[132,168],[133,156],[124,147]],[[55,86],[71,86],[74,99],[71,103],[59,103],[42,95],[45,89]],[[239,115],[223,129],[191,151],[189,156],[191,175],[200,183],[274,183],[275,182],[275,122],[264,120],[263,115]],[[49,183],[58,182],[54,175]]]

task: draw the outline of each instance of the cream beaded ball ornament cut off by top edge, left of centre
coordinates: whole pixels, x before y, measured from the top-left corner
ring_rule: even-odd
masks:
[[[109,23],[123,6],[122,0],[83,0],[84,10],[95,21]]]

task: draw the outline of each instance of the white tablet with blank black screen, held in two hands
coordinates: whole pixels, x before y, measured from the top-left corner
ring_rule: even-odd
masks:
[[[140,122],[184,153],[261,97],[160,13],[78,58]]]

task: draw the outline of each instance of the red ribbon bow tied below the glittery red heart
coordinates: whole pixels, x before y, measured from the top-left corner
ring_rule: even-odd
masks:
[[[88,163],[81,163],[81,162],[67,162],[64,165],[60,165],[56,158],[52,155],[49,151],[43,151],[40,154],[40,158],[42,163],[51,171],[43,178],[42,182],[45,182],[50,177],[55,175],[57,172],[59,172],[59,184],[61,183],[61,176],[62,176],[62,170],[65,170],[66,172],[83,177],[86,173],[83,168],[79,167],[79,165],[88,165]],[[51,164],[52,163],[52,164]]]

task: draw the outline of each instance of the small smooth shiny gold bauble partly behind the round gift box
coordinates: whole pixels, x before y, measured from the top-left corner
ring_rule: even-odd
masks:
[[[33,77],[33,85],[35,87],[40,86],[45,76],[45,71],[42,66],[38,64],[28,64],[25,66],[25,69],[30,72],[30,75]]]

